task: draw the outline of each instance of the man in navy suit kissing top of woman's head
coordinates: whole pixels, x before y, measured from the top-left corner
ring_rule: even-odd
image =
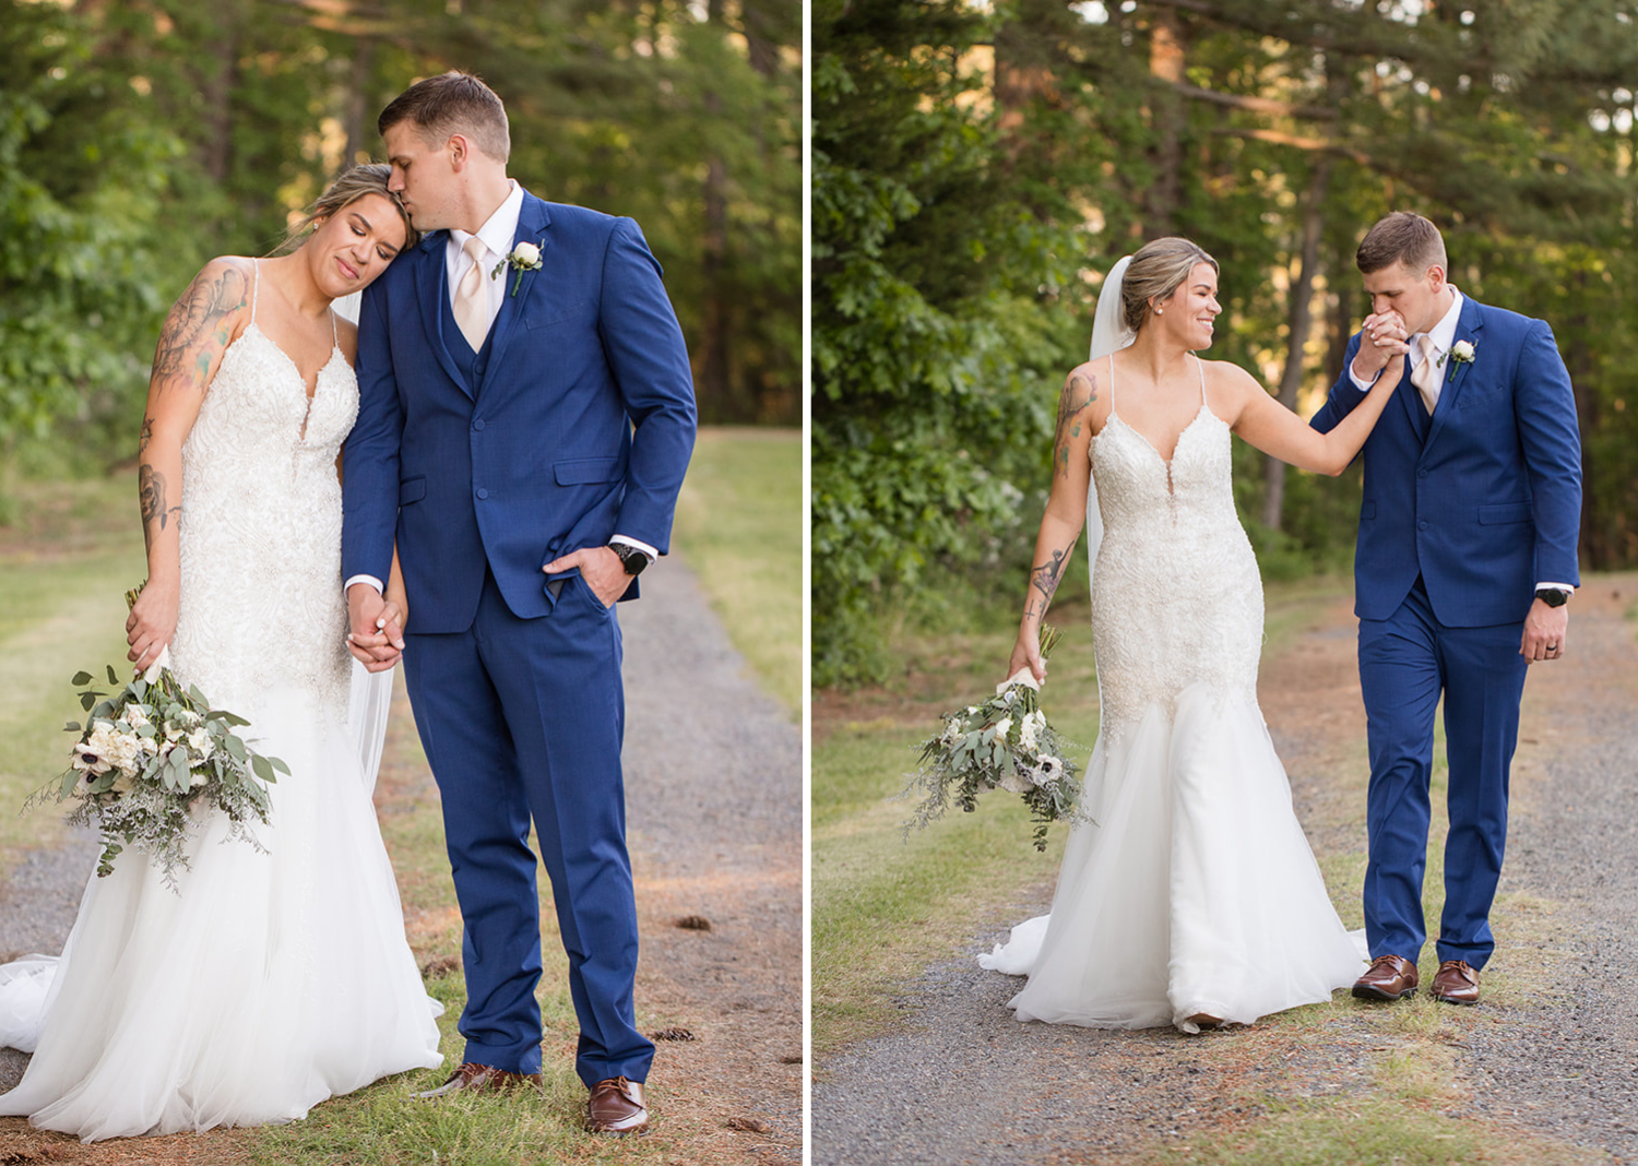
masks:
[[[506,177],[506,110],[477,77],[418,82],[378,128],[426,236],[364,298],[342,568],[354,655],[403,652],[465,924],[464,1064],[423,1096],[539,1081],[532,820],[590,1123],[629,1133],[654,1045],[632,1006],[613,608],[667,549],[695,439],[688,350],[636,223]],[[395,540],[411,622],[382,637]]]

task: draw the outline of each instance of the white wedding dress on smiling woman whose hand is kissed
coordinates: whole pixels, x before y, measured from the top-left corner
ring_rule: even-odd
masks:
[[[1102,368],[1099,368],[1102,372]],[[1250,1024],[1364,969],[1291,809],[1256,704],[1263,583],[1235,514],[1228,426],[1206,401],[1171,462],[1115,411],[1091,460],[1101,727],[1052,914],[986,968],[1027,974],[1019,1020]]]

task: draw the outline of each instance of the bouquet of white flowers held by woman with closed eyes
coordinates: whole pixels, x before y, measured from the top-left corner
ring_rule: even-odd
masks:
[[[126,593],[126,601],[136,603],[138,591]],[[82,671],[72,681],[85,686],[80,707],[90,716],[84,725],[64,725],[79,734],[69,768],[28,804],[77,799],[67,820],[97,829],[103,847],[97,874],[111,874],[120,852],[136,847],[177,891],[175,871],[188,868],[183,842],[195,814],[210,807],[228,817],[229,838],[260,850],[251,824],[267,822],[264,783],[290,768],[254,752],[233,732],[249,721],[213,709],[197,686],[183,688],[162,663],[113,694],[95,688],[93,680]],[[120,685],[113,665],[108,685]]]

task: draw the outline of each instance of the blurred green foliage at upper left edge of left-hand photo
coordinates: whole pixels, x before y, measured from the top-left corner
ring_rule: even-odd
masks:
[[[70,13],[7,2],[0,450],[61,419],[129,418],[157,324],[154,236],[179,151]]]

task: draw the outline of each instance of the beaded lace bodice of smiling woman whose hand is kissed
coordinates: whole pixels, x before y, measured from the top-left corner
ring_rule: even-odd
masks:
[[[1197,364],[1197,362],[1196,362]],[[1228,426],[1206,401],[1166,462],[1115,411],[1093,437],[1104,522],[1093,575],[1093,639],[1104,732],[1152,704],[1174,709],[1207,681],[1220,699],[1256,703],[1263,583],[1233,506]]]

